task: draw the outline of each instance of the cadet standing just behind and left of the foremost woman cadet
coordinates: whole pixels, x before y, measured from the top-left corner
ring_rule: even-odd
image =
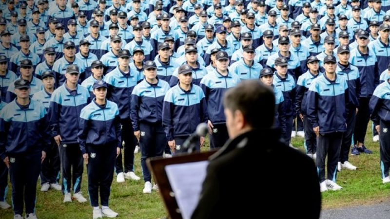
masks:
[[[83,164],[77,130],[80,111],[89,103],[90,96],[86,88],[78,85],[79,75],[77,65],[66,67],[66,80],[53,92],[50,99],[50,126],[52,136],[59,146],[62,166],[62,192],[65,195],[63,202],[72,201],[72,184],[73,198],[78,202],[87,201],[80,192]]]

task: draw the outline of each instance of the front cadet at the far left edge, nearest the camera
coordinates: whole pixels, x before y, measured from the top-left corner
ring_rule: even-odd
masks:
[[[37,219],[35,202],[40,165],[50,146],[47,112],[32,100],[30,84],[18,79],[14,83],[17,98],[0,112],[0,157],[9,168],[12,184],[14,219]]]

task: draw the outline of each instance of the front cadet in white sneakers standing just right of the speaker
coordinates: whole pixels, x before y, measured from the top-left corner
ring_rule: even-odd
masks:
[[[343,132],[346,127],[346,103],[349,102],[347,81],[336,75],[336,58],[324,58],[325,73],[318,76],[309,88],[307,114],[317,135],[317,169],[320,190],[342,189],[336,182],[337,162]],[[325,159],[328,154],[328,177],[325,178]]]

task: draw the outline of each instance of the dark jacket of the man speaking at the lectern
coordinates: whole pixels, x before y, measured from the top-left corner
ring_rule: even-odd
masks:
[[[192,219],[318,219],[314,162],[279,136],[272,129],[252,130],[216,152]]]

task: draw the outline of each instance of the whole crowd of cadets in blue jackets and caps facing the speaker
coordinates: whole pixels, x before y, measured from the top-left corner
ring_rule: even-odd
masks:
[[[37,218],[38,178],[87,201],[85,163],[93,218],[116,217],[134,153],[151,193],[146,159],[186,152],[200,123],[222,147],[224,93],[248,79],[273,90],[280,141],[305,138],[321,192],[372,153],[370,119],[390,183],[389,33],[388,0],[0,0],[0,208],[8,175],[16,219]]]

